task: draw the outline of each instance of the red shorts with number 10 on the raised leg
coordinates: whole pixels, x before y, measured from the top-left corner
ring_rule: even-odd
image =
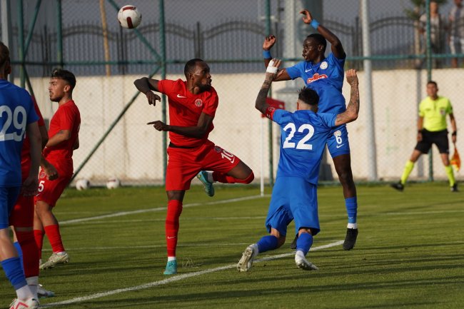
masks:
[[[188,190],[200,171],[228,173],[241,160],[232,153],[206,141],[196,148],[168,147],[166,191]]]

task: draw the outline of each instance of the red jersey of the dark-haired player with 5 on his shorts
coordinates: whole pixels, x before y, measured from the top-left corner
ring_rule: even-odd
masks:
[[[79,113],[79,109],[74,101],[70,100],[59,106],[50,121],[49,139],[61,130],[71,131],[71,138],[67,141],[62,141],[58,145],[44,149],[44,157],[50,163],[63,159],[72,163],[74,143],[76,143],[79,135],[80,126],[81,113]]]

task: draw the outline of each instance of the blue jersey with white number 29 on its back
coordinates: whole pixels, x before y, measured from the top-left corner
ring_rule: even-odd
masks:
[[[21,186],[26,126],[39,120],[29,93],[0,79],[0,187]]]

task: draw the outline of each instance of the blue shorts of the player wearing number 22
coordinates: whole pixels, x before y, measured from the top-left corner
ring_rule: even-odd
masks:
[[[311,228],[316,235],[319,227],[317,186],[301,177],[279,177],[272,191],[266,228],[275,228],[287,235],[287,226],[295,220],[295,233],[300,228]]]

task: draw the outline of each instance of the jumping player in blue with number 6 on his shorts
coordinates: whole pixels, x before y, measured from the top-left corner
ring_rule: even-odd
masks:
[[[326,27],[319,24],[316,19],[313,19],[307,9],[303,9],[300,13],[304,15],[303,22],[313,26],[319,31],[319,34],[310,34],[303,42],[304,61],[278,71],[275,81],[288,81],[301,77],[306,87],[318,93],[321,113],[342,113],[346,110],[345,98],[341,92],[346,54],[341,41]],[[326,57],[324,53],[327,41],[331,43],[332,52]],[[276,36],[271,35],[264,40],[263,56],[266,67],[271,61],[270,49],[275,43]],[[351,171],[350,143],[345,125],[333,128],[331,136],[327,139],[327,148],[331,153],[338,179],[343,186],[343,196],[348,213],[348,226],[343,249],[351,250],[358,237],[358,224],[356,222],[358,199]],[[295,248],[295,240],[293,240],[291,248]]]

